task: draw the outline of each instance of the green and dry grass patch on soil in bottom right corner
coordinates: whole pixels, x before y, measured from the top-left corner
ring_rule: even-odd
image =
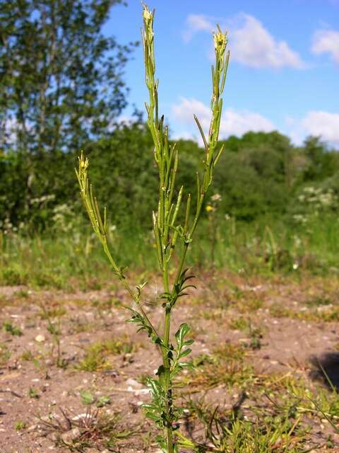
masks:
[[[339,395],[335,389],[315,386],[304,376],[297,377],[291,372],[249,374],[251,378],[245,381],[243,372],[232,374],[237,379],[229,386],[225,379],[228,371],[215,357],[200,362],[198,366],[208,372],[206,381],[189,378],[194,385],[198,384],[200,395],[206,394],[213,376],[213,384],[226,386],[233,392],[245,385],[228,408],[206,403],[205,396],[188,399],[184,411],[189,433],[189,440],[183,439],[186,447],[191,442],[190,447],[196,452],[224,453],[302,453],[335,448],[333,435],[323,435],[321,439],[311,435],[311,427],[315,425],[328,424],[334,432],[339,432]],[[237,363],[240,369],[242,357]],[[208,371],[211,365],[213,372]],[[198,376],[202,378],[206,374],[201,372]]]

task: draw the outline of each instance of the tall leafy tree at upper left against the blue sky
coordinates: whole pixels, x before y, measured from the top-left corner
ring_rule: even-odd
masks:
[[[102,34],[121,0],[0,0],[0,148],[79,149],[126,105],[133,48]]]

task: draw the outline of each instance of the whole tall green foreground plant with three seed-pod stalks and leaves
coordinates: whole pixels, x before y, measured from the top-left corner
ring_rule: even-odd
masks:
[[[103,217],[100,213],[97,200],[93,195],[93,188],[88,180],[88,159],[81,154],[79,166],[76,171],[81,189],[81,197],[85,209],[90,217],[95,234],[102,243],[102,247],[112,265],[114,275],[124,285],[131,297],[131,319],[136,323],[138,330],[148,333],[150,340],[159,348],[162,355],[162,364],[157,369],[155,377],[148,377],[148,386],[152,401],[144,404],[145,414],[154,420],[161,434],[157,441],[164,452],[177,452],[178,445],[189,447],[186,440],[179,433],[179,419],[182,409],[175,404],[173,382],[182,369],[192,367],[186,357],[191,353],[189,346],[193,340],[187,339],[190,328],[183,323],[177,329],[174,338],[171,338],[172,311],[180,297],[186,295],[186,290],[193,287],[190,281],[193,275],[185,268],[186,255],[194,239],[194,233],[198,220],[201,217],[206,193],[213,181],[213,171],[218,163],[222,147],[218,146],[220,117],[222,113],[222,91],[225,86],[229,52],[226,52],[227,36],[218,31],[214,33],[215,66],[212,67],[213,94],[210,103],[211,120],[210,129],[206,136],[203,128],[194,115],[194,119],[200,131],[205,155],[203,159],[203,174],[196,174],[196,206],[192,206],[191,195],[184,195],[184,188],[176,187],[176,176],[179,165],[179,153],[175,144],[169,144],[168,127],[164,124],[164,117],[159,116],[157,88],[159,81],[155,79],[155,52],[153,33],[154,11],[143,6],[143,52],[145,57],[145,82],[148,88],[149,101],[146,103],[148,115],[148,127],[154,142],[154,159],[159,170],[159,202],[157,212],[153,212],[153,230],[157,250],[157,259],[162,273],[163,292],[160,302],[164,311],[164,328],[158,332],[152,321],[143,309],[143,287],[138,285],[135,289],[129,284],[126,277],[126,269],[120,267],[114,260],[109,246],[107,234],[107,213],[104,210]],[[185,205],[182,214],[182,205]],[[169,279],[169,268],[174,255],[176,269],[174,278]],[[174,265],[174,264],[173,264]],[[172,275],[172,273],[171,273]]]

